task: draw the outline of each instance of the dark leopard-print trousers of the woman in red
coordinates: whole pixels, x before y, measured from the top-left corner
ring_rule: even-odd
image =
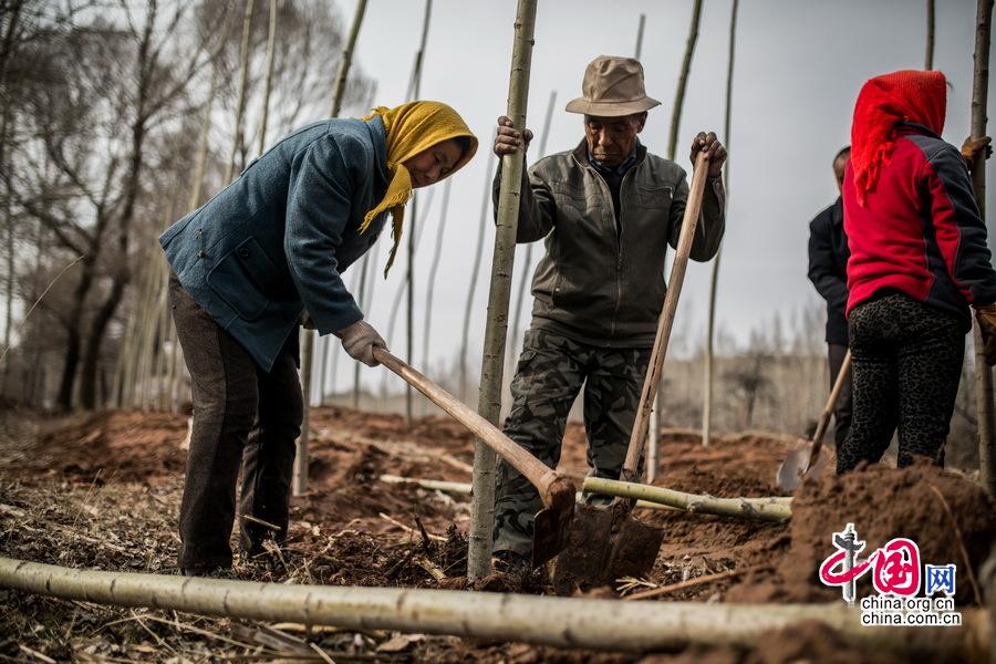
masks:
[[[944,465],[944,444],[965,355],[953,313],[890,291],[849,317],[854,414],[837,473],[882,458],[899,427],[899,466],[916,456]]]

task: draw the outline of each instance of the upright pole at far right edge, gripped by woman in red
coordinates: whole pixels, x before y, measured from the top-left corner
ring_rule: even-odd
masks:
[[[993,25],[993,0],[978,0],[975,20],[975,68],[972,80],[972,137],[986,135],[986,106],[989,87],[989,40]],[[979,151],[972,170],[975,200],[983,221],[986,218],[986,158]],[[985,346],[978,323],[973,325],[975,339],[975,405],[978,422],[978,463],[983,487],[996,499],[996,415],[993,407],[993,370],[986,363]]]

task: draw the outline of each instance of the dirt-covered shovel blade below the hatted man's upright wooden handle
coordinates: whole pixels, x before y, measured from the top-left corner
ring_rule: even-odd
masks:
[[[553,570],[553,590],[570,595],[620,577],[642,577],[654,567],[663,540],[663,530],[637,521],[629,510],[579,505]]]

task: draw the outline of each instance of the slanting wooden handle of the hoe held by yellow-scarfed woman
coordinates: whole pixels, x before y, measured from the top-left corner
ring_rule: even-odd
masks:
[[[511,464],[516,470],[525,475],[526,479],[539,489],[540,496],[546,496],[550,484],[560,477],[515,440],[502,434],[498,427],[471,411],[466,404],[439,387],[439,385],[413,369],[409,364],[392,355],[386,349],[374,346],[373,354],[377,362],[396,373],[454,419],[479,436],[488,447]]]

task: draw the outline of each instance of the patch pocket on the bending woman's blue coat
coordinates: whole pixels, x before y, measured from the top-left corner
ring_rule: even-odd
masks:
[[[253,237],[242,240],[208,272],[207,283],[235,309],[239,318],[255,321],[270,303],[268,284],[279,279],[277,266]]]

